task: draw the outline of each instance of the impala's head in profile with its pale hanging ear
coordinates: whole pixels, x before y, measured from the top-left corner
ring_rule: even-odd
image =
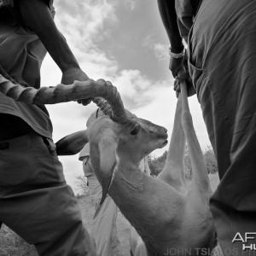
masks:
[[[105,116],[96,119],[87,132],[91,162],[102,184],[102,201],[119,158],[137,165],[144,156],[167,144],[166,128],[125,110],[119,93],[113,90],[112,96],[104,95],[106,101],[99,97],[93,99]]]

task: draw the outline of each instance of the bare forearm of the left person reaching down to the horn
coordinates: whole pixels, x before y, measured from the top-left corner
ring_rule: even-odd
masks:
[[[61,68],[62,73],[70,69],[79,68],[71,49],[65,38],[55,26],[49,8],[43,0],[20,0],[17,1],[20,15],[48,50],[49,55]]]

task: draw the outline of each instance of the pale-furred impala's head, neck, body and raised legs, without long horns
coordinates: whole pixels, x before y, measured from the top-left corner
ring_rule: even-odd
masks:
[[[186,85],[181,89],[166,166],[157,178],[141,172],[139,163],[166,145],[166,129],[125,110],[118,94],[110,101],[107,98],[108,102],[95,100],[106,115],[84,132],[102,184],[102,201],[108,193],[135,228],[131,230],[135,256],[174,255],[175,251],[177,255],[210,255],[216,243],[209,211],[212,190],[189,113]],[[186,140],[193,168],[189,189],[183,164]]]

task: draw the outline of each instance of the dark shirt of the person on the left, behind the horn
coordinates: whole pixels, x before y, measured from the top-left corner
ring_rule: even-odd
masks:
[[[53,1],[45,0],[45,3],[54,16]],[[14,84],[38,89],[45,55],[44,45],[21,19],[13,1],[0,0],[0,75]],[[0,92],[0,113],[15,115],[38,134],[52,137],[52,124],[44,105],[16,102]]]

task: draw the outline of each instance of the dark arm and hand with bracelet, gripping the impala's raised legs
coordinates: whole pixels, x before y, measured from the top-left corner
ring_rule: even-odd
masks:
[[[158,0],[158,8],[163,25],[166,28],[166,33],[171,44],[172,53],[178,54],[183,52],[183,38],[180,35],[177,26],[177,14],[175,10],[174,0]],[[177,76],[177,71],[182,67],[184,55],[180,58],[170,57],[169,68],[172,71],[172,76]]]

